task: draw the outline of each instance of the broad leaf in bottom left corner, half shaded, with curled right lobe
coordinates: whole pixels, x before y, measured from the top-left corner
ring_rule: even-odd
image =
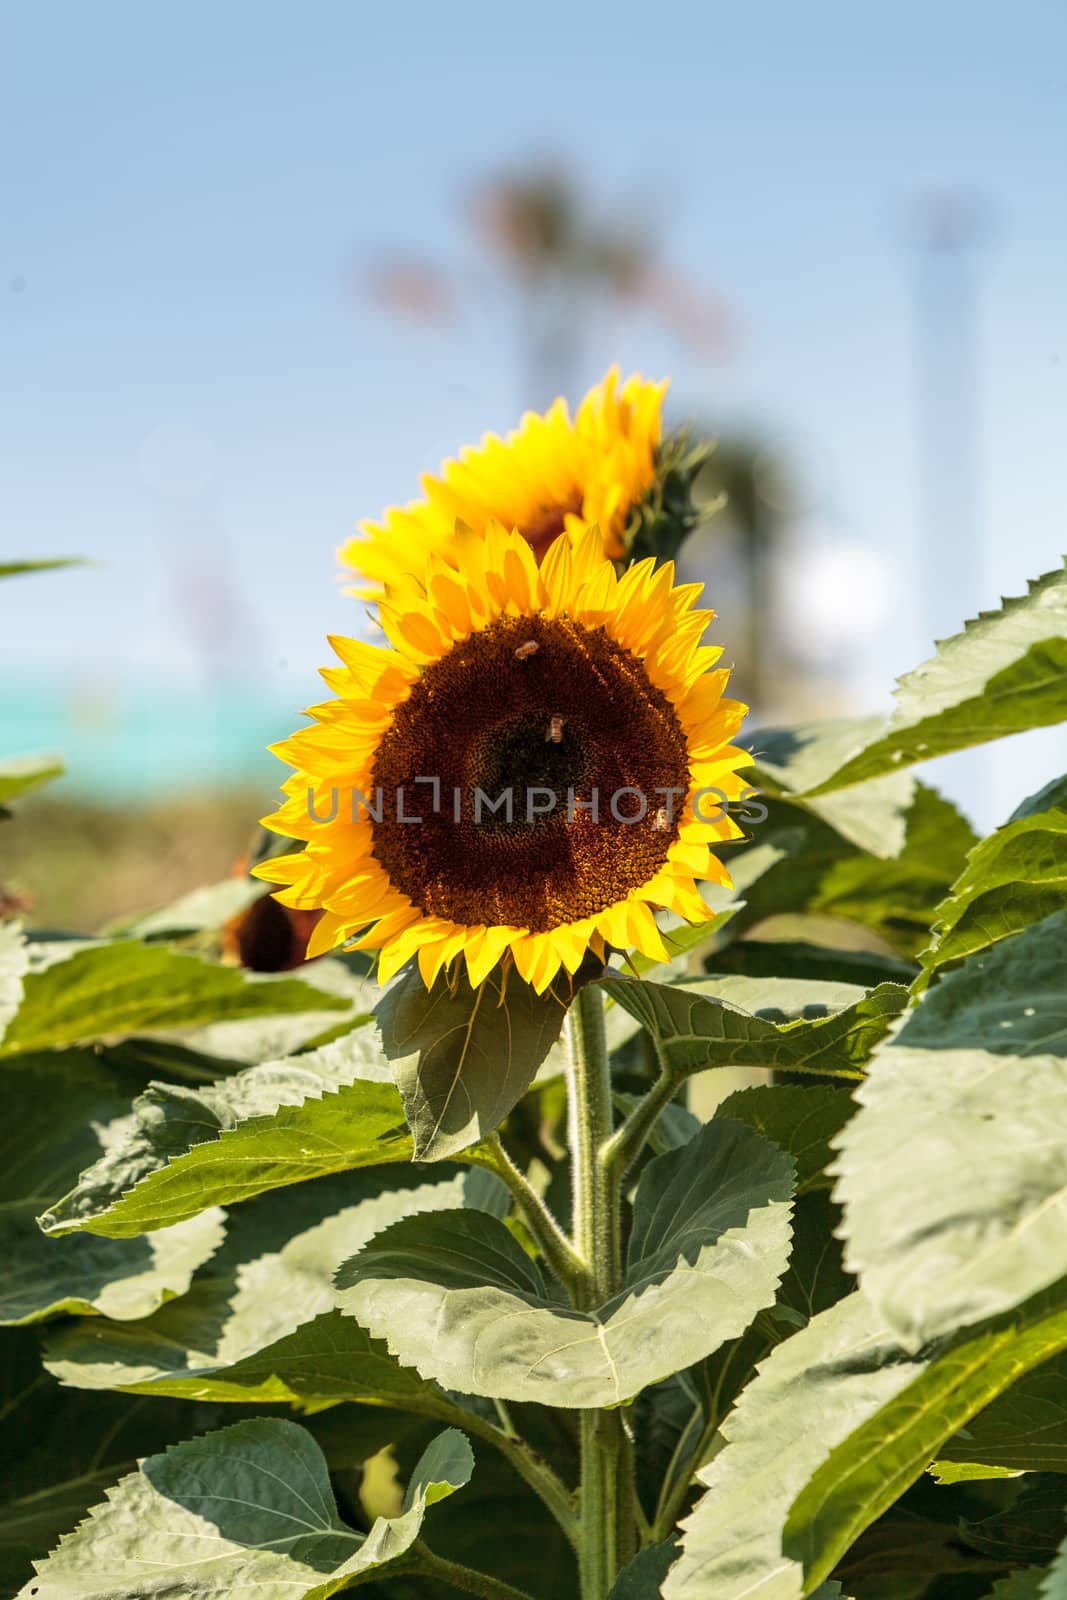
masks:
[[[122,1478],[48,1560],[24,1595],[37,1600],[197,1600],[254,1589],[259,1600],[325,1600],[395,1560],[419,1536],[426,1509],[474,1467],[462,1434],[429,1446],[400,1517],[368,1534],[338,1517],[323,1454],[296,1422],[253,1419],[150,1456]]]

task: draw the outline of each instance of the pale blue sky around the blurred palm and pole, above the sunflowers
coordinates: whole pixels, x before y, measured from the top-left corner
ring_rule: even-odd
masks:
[[[522,400],[502,304],[403,325],[354,293],[354,264],[469,261],[464,189],[541,155],[605,205],[651,205],[664,254],[739,328],[709,365],[649,318],[605,318],[582,376],[669,371],[678,413],[758,426],[800,464],[805,522],[885,563],[883,626],[853,645],[861,709],[929,635],[902,222],[920,184],[995,218],[984,542],[941,626],[1067,544],[1061,3],[705,0],[657,21],[553,0],[22,0],[0,19],[0,550],[106,563],[6,589],[6,683],[251,683],[285,731],[323,635],[358,622],[334,546]],[[194,624],[181,595],[205,573],[222,592]]]

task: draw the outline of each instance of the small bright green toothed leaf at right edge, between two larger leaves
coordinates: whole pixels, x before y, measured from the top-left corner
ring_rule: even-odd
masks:
[[[920,957],[921,992],[933,973],[987,950],[1067,904],[1067,811],[1019,818],[971,851],[937,907],[929,949]]]

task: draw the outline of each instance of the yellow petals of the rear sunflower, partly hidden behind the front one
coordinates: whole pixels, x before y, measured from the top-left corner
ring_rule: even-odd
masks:
[[[410,586],[429,555],[456,565],[456,520],[485,533],[491,518],[518,531],[537,560],[560,534],[571,542],[592,523],[603,531],[611,560],[624,555],[622,534],[656,477],[665,384],[627,378],[619,390],[613,368],[585,395],[571,419],[566,400],[544,416],[528,411],[520,427],[446,461],[424,477],[426,498],[362,525],[366,538],[338,550],[360,582],[352,590],[378,598],[387,584]]]

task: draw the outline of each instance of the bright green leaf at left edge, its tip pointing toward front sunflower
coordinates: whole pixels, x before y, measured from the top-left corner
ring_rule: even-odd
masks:
[[[64,954],[66,954],[64,947]],[[262,981],[235,966],[133,939],[75,949],[30,971],[0,1056],[82,1045],[109,1034],[192,1027],[278,1011],[336,1011],[344,1002],[298,979]]]

